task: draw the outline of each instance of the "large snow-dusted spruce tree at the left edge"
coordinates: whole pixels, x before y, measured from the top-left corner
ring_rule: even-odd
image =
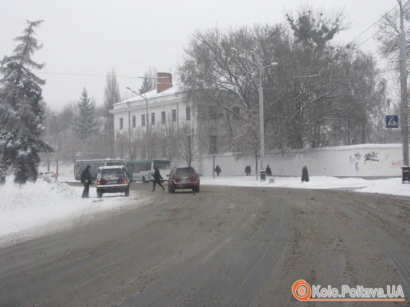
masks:
[[[44,66],[31,59],[42,47],[34,38],[34,29],[42,22],[27,21],[23,35],[15,38],[19,44],[13,55],[0,62],[0,157],[2,164],[14,170],[15,182],[20,184],[37,179],[39,152],[53,151],[39,138],[45,112],[39,102],[45,81],[29,69]]]

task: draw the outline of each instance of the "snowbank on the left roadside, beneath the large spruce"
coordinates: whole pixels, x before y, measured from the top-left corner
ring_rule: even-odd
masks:
[[[78,225],[107,212],[129,206],[128,197],[81,198],[83,187],[42,179],[18,185],[7,178],[0,186],[0,247]],[[116,194],[111,194],[116,195]],[[120,195],[120,194],[119,194]],[[135,203],[135,201],[133,201]]]

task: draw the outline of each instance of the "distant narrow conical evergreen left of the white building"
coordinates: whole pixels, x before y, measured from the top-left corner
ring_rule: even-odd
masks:
[[[94,131],[94,105],[91,103],[85,87],[78,101],[76,131],[81,140],[86,139]]]

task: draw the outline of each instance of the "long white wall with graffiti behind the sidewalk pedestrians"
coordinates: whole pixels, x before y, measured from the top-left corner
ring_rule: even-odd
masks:
[[[361,144],[338,147],[321,147],[304,150],[275,151],[265,154],[273,175],[301,176],[306,165],[310,176],[401,176],[401,144]],[[219,155],[215,159],[222,175],[245,175],[250,165],[255,175],[255,159],[235,161],[232,154]],[[258,168],[260,161],[258,161]],[[202,174],[212,176],[212,157],[203,156]]]

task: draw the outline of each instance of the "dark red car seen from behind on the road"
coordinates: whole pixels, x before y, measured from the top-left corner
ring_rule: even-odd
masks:
[[[168,192],[174,193],[177,189],[192,189],[199,192],[199,175],[193,167],[173,168],[168,179]]]

